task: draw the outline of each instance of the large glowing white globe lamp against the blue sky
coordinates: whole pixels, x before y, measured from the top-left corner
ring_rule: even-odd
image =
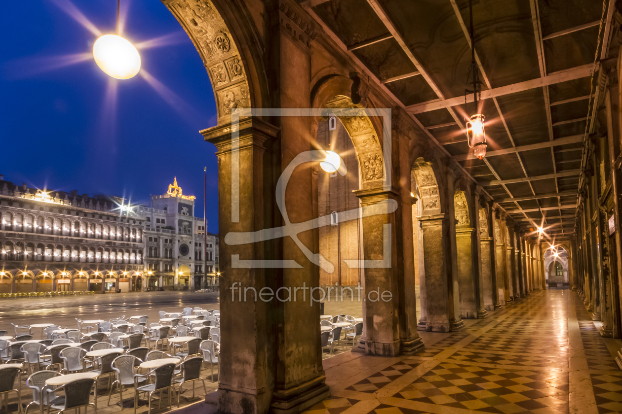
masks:
[[[103,35],[93,45],[93,58],[97,66],[115,79],[130,79],[141,70],[141,56],[126,38]]]

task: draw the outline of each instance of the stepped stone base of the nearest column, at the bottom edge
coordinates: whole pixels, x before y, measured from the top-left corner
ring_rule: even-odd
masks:
[[[270,404],[271,412],[279,414],[300,413],[325,400],[330,397],[330,390],[325,384],[325,380],[325,376],[320,376],[297,387],[274,391]],[[249,411],[244,410],[244,412]]]

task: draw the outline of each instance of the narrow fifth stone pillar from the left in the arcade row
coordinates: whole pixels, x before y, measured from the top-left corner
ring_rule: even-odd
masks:
[[[485,310],[494,310],[494,304],[496,299],[496,286],[495,286],[495,270],[494,269],[494,241],[491,235],[493,230],[492,214],[490,205],[485,202],[485,199],[480,199],[483,202],[480,203],[479,210],[479,228],[480,228],[480,274],[481,274],[481,304]],[[490,217],[490,219],[489,219]]]

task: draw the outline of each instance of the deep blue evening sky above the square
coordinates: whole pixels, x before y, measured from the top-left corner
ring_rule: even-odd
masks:
[[[126,4],[127,2],[127,4]],[[0,17],[0,174],[18,185],[78,194],[113,194],[148,204],[173,177],[197,197],[203,217],[207,166],[208,230],[218,232],[216,148],[198,133],[216,124],[213,91],[197,50],[160,1],[122,0],[133,43],[171,35],[172,45],[141,51],[139,75],[117,81],[89,60],[52,69],[59,56],[92,52],[96,36],[57,4],[73,4],[103,34],[114,33],[116,0],[6,2]],[[91,54],[92,56],[92,54]],[[142,70],[142,69],[141,69]]]

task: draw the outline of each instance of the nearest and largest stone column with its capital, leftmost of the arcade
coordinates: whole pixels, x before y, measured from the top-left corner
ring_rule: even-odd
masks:
[[[274,186],[280,174],[280,163],[278,154],[274,155],[271,151],[278,130],[255,117],[242,119],[238,127],[239,151],[232,151],[231,127],[231,124],[219,125],[202,131],[205,140],[216,145],[218,150],[218,222],[221,235],[225,235],[220,243],[223,346],[218,361],[218,410],[234,414],[266,413],[273,400],[277,366],[285,371],[284,358],[276,358],[275,355],[277,335],[285,327],[276,324],[278,313],[273,302],[256,299],[252,290],[244,300],[242,292],[246,288],[259,292],[263,287],[275,287],[282,278],[277,269],[264,269],[251,264],[233,266],[232,260],[279,259],[282,247],[276,241],[252,243],[252,239],[244,245],[231,245],[226,235],[271,228],[276,223],[273,217],[276,210]],[[231,181],[238,173],[239,191],[234,194]],[[232,217],[233,209],[239,209],[239,217]],[[307,312],[315,317],[313,308],[309,307],[308,302],[305,303]],[[288,335],[305,338],[309,341],[306,347],[317,347],[319,335],[308,335],[307,330],[311,330],[312,326],[305,325],[308,323],[299,323],[295,335],[293,330]],[[244,335],[240,335],[241,332]],[[315,351],[315,354],[320,358],[320,351]],[[313,370],[307,370],[301,364],[297,372]],[[318,383],[323,384],[323,375],[320,372],[316,375],[320,377]],[[299,390],[316,387],[312,380],[298,385]],[[327,395],[327,392],[320,394]]]

